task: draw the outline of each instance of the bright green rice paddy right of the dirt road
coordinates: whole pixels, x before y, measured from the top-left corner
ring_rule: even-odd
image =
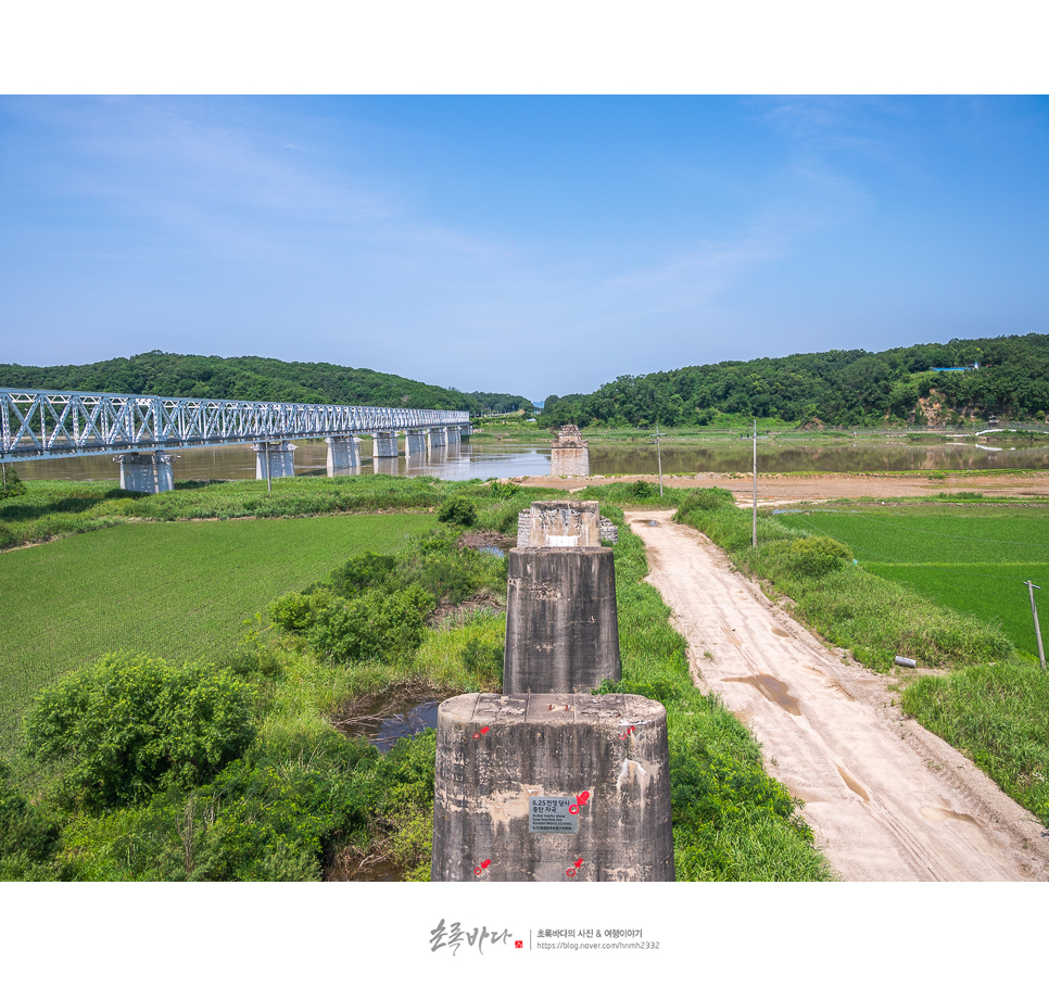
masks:
[[[844,542],[870,572],[997,622],[1018,649],[1036,656],[1029,579],[1046,587],[1035,599],[1049,640],[1049,507],[864,504],[782,519]]]

